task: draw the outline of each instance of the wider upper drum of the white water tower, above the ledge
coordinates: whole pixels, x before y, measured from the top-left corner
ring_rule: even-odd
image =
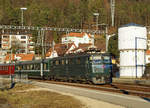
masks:
[[[119,50],[135,49],[137,41],[137,49],[146,49],[147,30],[146,27],[135,24],[128,24],[119,28]]]

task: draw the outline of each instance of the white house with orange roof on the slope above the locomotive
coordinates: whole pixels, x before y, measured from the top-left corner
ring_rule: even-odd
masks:
[[[62,36],[62,44],[75,43],[78,47],[79,44],[92,44],[94,45],[94,35],[87,33],[68,33]]]

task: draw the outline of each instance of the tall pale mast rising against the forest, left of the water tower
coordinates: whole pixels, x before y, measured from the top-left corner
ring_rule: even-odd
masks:
[[[110,8],[111,8],[111,26],[114,27],[115,21],[115,0],[110,0]]]

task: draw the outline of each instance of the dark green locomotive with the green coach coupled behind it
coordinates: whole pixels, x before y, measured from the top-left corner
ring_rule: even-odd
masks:
[[[111,55],[87,53],[19,62],[15,65],[15,72],[28,74],[29,78],[106,84],[112,81]]]

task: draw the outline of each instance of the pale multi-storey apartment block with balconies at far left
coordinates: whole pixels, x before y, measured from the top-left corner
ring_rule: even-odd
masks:
[[[2,34],[1,36],[1,48],[3,50],[15,48],[16,53],[34,53],[33,44],[31,35]]]

